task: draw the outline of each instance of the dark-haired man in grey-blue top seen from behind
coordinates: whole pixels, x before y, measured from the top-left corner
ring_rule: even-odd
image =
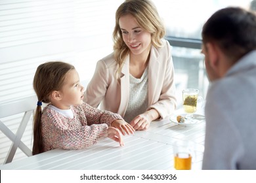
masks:
[[[203,25],[205,103],[202,169],[256,169],[256,16],[238,7]]]

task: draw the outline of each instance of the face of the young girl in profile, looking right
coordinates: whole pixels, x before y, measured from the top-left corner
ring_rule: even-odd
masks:
[[[71,105],[83,103],[84,88],[79,81],[79,75],[75,69],[66,73],[62,91],[60,91],[62,109],[68,109]]]

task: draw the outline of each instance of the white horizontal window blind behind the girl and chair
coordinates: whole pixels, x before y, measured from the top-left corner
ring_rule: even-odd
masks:
[[[112,52],[118,0],[1,0],[0,105],[34,95],[33,75],[45,61],[75,65],[84,85],[96,61]],[[36,104],[35,104],[36,105]],[[21,114],[3,120],[15,133]],[[1,133],[1,132],[0,132]],[[32,122],[22,141],[32,147]],[[0,163],[11,142],[0,134]],[[20,151],[15,159],[24,158]]]

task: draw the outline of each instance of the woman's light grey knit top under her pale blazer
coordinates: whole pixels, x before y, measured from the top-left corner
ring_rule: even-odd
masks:
[[[148,108],[148,67],[141,78],[130,74],[129,102],[123,119],[129,123]]]

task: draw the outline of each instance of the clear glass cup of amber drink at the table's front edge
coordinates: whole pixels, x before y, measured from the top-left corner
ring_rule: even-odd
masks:
[[[195,158],[195,143],[193,141],[175,141],[173,154],[175,169],[190,170],[192,159]]]

